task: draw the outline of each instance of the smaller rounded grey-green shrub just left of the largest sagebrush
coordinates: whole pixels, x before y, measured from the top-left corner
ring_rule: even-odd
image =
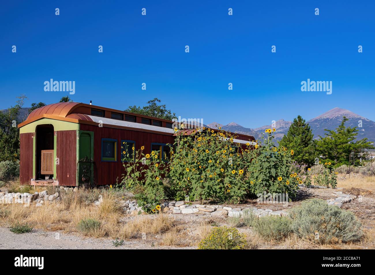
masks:
[[[253,229],[267,240],[281,240],[291,232],[291,220],[287,217],[260,217],[253,223]]]

